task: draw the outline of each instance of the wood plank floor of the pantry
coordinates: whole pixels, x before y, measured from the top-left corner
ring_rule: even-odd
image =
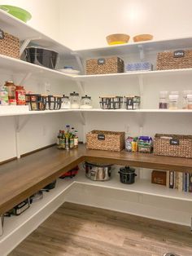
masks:
[[[9,256],[192,256],[189,227],[64,203]]]

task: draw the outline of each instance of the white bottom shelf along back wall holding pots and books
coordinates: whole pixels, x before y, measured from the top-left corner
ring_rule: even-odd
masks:
[[[162,185],[152,184],[150,180],[136,179],[133,184],[120,183],[117,170],[113,170],[111,180],[101,182],[92,181],[85,177],[85,170],[81,170],[75,178],[76,183],[81,183],[98,188],[110,188],[125,192],[133,192],[150,196],[160,196],[182,201],[192,201],[192,193],[179,192],[177,189],[167,188]]]

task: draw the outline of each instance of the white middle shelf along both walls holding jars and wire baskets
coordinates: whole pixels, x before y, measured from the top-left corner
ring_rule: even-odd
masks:
[[[28,106],[0,106],[0,117],[28,116],[28,115],[45,115],[53,113],[192,113],[192,109],[59,109],[45,111],[29,111]]]

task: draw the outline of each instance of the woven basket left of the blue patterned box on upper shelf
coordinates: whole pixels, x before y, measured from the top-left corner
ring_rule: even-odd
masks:
[[[119,57],[86,60],[86,74],[124,73],[124,61]]]

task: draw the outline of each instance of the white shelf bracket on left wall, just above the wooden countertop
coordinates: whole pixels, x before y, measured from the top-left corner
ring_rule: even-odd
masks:
[[[26,116],[21,122],[20,116],[15,117],[15,149],[17,158],[20,158],[20,131],[26,126],[30,118],[31,116]]]

